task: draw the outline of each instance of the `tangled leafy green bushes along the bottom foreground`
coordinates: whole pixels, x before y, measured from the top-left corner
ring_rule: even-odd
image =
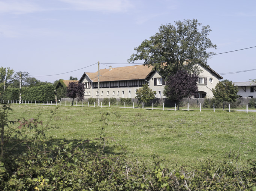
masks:
[[[51,127],[39,119],[7,126],[14,122],[7,120],[6,110],[0,112],[5,140],[4,145],[1,142],[0,190],[256,190],[253,160],[239,168],[237,159],[212,158],[195,170],[167,169],[156,156],[153,167],[127,163],[125,150],[103,134],[108,113],[102,115],[99,138],[68,142],[46,138],[44,131]]]

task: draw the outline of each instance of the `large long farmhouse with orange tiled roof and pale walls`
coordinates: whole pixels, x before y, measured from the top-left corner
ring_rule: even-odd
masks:
[[[203,68],[198,79],[198,98],[213,97],[212,88],[223,79],[211,68]],[[98,95],[98,72],[85,72],[78,83],[85,85],[85,98]],[[135,98],[136,90],[143,84],[149,84],[149,87],[156,91],[156,98],[163,98],[163,89],[165,81],[158,71],[151,66],[135,65],[108,69],[100,69],[100,91],[99,96],[115,98]]]

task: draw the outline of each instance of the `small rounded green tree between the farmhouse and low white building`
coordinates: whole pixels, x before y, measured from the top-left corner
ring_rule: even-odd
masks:
[[[224,81],[224,82],[223,82]],[[213,89],[214,97],[223,102],[223,110],[225,108],[225,101],[226,102],[234,102],[239,98],[238,87],[235,84],[232,84],[232,81],[223,80],[222,82],[218,82],[218,84]]]

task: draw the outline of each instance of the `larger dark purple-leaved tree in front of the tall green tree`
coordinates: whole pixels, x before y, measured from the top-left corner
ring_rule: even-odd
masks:
[[[197,81],[198,75],[190,74],[186,70],[177,71],[174,75],[167,76],[163,94],[168,99],[174,100],[180,109],[181,99],[193,96],[198,91]]]

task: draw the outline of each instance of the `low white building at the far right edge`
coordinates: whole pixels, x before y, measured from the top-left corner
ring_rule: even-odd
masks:
[[[238,95],[240,98],[256,97],[256,82],[233,82],[238,86]]]

